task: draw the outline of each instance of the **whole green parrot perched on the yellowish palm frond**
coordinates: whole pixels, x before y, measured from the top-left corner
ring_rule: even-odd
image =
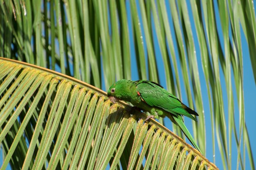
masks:
[[[159,119],[159,117],[167,116],[181,128],[193,146],[201,152],[183,121],[183,116],[196,121],[192,115],[198,116],[198,113],[183,104],[161,85],[147,80],[132,81],[121,79],[110,86],[108,97],[113,103],[124,100],[140,110],[147,111],[150,113],[150,116],[145,121],[148,121],[150,118]]]

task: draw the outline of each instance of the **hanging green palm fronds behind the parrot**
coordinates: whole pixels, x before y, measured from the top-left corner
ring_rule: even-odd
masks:
[[[255,169],[245,123],[241,45],[243,31],[256,81],[254,5],[251,0],[216,2],[224,50],[221,48],[216,29],[217,11],[213,0],[169,0],[168,3],[129,0],[129,9],[126,7],[127,1],[124,0],[1,0],[0,56],[52,70],[56,70],[58,66],[61,73],[73,75],[101,88],[102,81],[108,87],[116,79],[131,78],[130,46],[134,44],[139,79],[148,78],[159,82],[159,68],[156,65],[158,54],[155,54],[153,39],[155,29],[164,61],[167,90],[177,97],[182,97],[182,79],[189,106],[195,107],[198,113],[202,114],[204,108],[198,67],[203,68],[209,97],[207,102],[210,106],[210,113],[207,114],[211,114],[213,154],[216,149],[220,150],[223,169],[231,169],[233,138],[238,150],[237,164],[241,169],[245,169],[243,162],[245,154],[248,154],[251,169]],[[191,5],[193,21],[189,20],[187,3]],[[169,5],[171,11],[167,10],[166,5]],[[128,29],[128,10],[132,30]],[[175,37],[171,35],[168,13],[171,13]],[[195,24],[196,34],[191,32],[191,22]],[[142,30],[145,34],[144,39]],[[129,36],[130,31],[133,38]],[[200,63],[194,53],[195,36],[200,45],[200,51],[197,51],[201,56]],[[175,53],[173,44],[177,44],[178,54]],[[181,74],[178,72],[177,60],[180,60]],[[220,72],[224,73],[225,82],[220,82]],[[236,88],[231,86],[231,77],[234,77]],[[228,97],[228,119],[225,119],[222,84],[225,84],[227,89],[224,93],[227,93]],[[190,95],[192,91],[194,99]],[[234,93],[239,102],[234,101]],[[239,115],[234,115],[235,104],[238,105]],[[235,119],[239,119],[238,129],[234,124]],[[206,122],[203,115],[199,117],[199,122],[200,124],[193,122],[193,134],[205,154],[208,132],[205,130]],[[180,130],[173,128],[176,133],[181,134]],[[214,142],[215,139],[218,141],[217,144]]]

